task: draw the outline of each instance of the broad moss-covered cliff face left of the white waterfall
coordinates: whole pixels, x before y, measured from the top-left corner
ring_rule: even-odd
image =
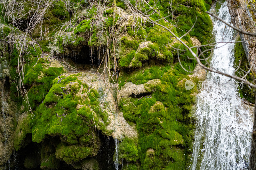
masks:
[[[97,13],[97,5],[75,1],[71,11],[78,11],[76,18],[64,3],[52,3],[42,27],[50,30],[50,38],[32,40],[40,37],[41,28],[37,25],[31,37],[27,37],[23,51],[22,79],[28,102],[15,85],[19,80],[16,79],[19,44],[9,51],[8,60],[1,60],[1,64],[8,65],[2,77],[8,75],[10,82],[9,90],[4,90],[10,92],[9,103],[15,103],[12,109],[16,111],[12,112],[18,113],[10,123],[13,126],[10,126],[10,148],[17,151],[21,165],[27,169],[104,169],[99,161],[104,136],[120,142],[118,154],[113,150],[111,155],[102,156],[117,159],[123,169],[187,169],[194,140],[192,115],[198,90],[196,85],[187,90],[185,83],[203,81],[205,71],[193,75],[184,71],[174,48],[185,47],[160,26],[143,18],[136,20],[122,1],[116,2],[119,12],[115,18],[112,1],[102,7],[101,14]],[[206,44],[212,36],[212,22],[205,13],[211,1],[172,3],[173,9],[179,3],[174,15],[157,22],[167,27],[177,23],[172,31],[181,36],[196,21],[183,40],[188,46]],[[169,15],[169,1],[156,5],[159,14],[151,13],[152,19],[161,18],[160,14]],[[149,6],[144,12],[148,9]],[[74,22],[64,31],[57,26],[72,18]],[[102,18],[104,22],[99,22]],[[115,32],[111,34],[113,25]],[[4,26],[4,30],[8,34],[12,28]],[[109,41],[109,35],[114,37],[113,41]],[[105,56],[107,61],[103,60]],[[200,69],[195,60],[188,59],[193,57],[189,52],[180,51],[179,56],[187,70]],[[71,66],[65,63],[69,60],[61,57],[72,60]],[[78,58],[84,58],[87,63],[77,62]],[[99,72],[95,68],[74,71],[78,64],[92,67],[91,61],[94,64],[103,61]],[[106,70],[103,65],[108,66],[111,74],[103,71]],[[118,76],[113,77],[116,67]],[[1,166],[11,153],[8,150],[9,155],[0,162]]]

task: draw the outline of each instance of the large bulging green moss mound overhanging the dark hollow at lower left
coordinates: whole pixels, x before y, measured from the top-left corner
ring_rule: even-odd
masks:
[[[68,164],[97,154],[100,139],[95,126],[107,133],[108,114],[98,107],[102,94],[89,89],[80,76],[81,73],[61,76],[59,83],[59,78],[53,81],[36,111],[32,128],[32,140],[37,143],[46,135],[59,136],[63,143],[57,147],[56,156]]]

